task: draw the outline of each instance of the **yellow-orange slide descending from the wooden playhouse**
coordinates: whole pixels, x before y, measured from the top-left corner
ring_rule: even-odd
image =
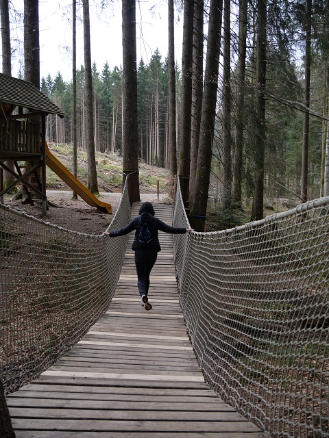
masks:
[[[63,166],[62,163],[51,153],[51,151],[49,151],[47,144],[46,164],[87,204],[91,205],[92,207],[96,207],[97,209],[104,211],[105,213],[112,214],[112,205],[99,201],[99,199],[96,198],[96,196],[93,195],[93,193],[90,192],[90,190],[88,190],[82,183],[80,183],[80,181],[75,178],[75,176],[68,169],[66,169],[66,167]]]

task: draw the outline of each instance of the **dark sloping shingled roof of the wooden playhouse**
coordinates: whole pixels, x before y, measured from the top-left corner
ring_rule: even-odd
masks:
[[[0,73],[0,102],[47,114],[65,114],[31,82]]]

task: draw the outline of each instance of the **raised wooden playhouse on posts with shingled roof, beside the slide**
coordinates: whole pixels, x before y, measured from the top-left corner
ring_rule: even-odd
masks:
[[[64,113],[32,83],[0,73],[0,203],[3,195],[21,183],[31,205],[47,211],[46,117]],[[14,162],[14,171],[8,167]],[[3,187],[3,170],[14,182]]]

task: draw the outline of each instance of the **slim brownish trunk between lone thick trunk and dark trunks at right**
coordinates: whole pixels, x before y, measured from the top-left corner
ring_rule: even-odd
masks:
[[[175,95],[175,31],[173,0],[168,0],[168,75],[169,75],[169,170],[177,174],[176,95]]]

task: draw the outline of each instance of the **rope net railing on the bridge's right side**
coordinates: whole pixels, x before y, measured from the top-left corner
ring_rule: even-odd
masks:
[[[188,227],[179,185],[175,227]],[[329,437],[329,197],[175,235],[180,302],[207,383],[273,437]]]

